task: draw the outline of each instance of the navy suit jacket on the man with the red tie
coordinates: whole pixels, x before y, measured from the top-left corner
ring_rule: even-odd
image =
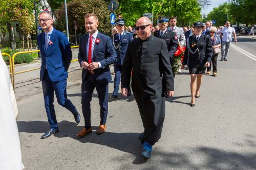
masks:
[[[82,61],[88,62],[88,38],[89,33],[80,38],[78,51],[79,64],[81,64]],[[100,42],[95,42],[92,62],[100,62],[101,68],[95,69],[93,76],[95,77],[97,83],[106,84],[112,80],[109,65],[117,61],[117,55],[110,37],[98,32],[96,39],[99,39]],[[87,69],[82,69],[82,81],[86,78],[86,75]]]

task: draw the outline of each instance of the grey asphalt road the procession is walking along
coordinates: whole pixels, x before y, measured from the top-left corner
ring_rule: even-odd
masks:
[[[255,39],[238,37],[234,45],[256,54]],[[220,56],[219,56],[220,59]],[[75,64],[75,63],[74,63]],[[113,67],[111,67],[113,69]],[[212,72],[211,72],[212,74]],[[81,70],[70,73],[68,97],[81,113]],[[49,127],[40,83],[18,101],[18,130],[26,169],[256,169],[256,61],[231,45],[228,61],[218,61],[218,76],[205,75],[196,106],[190,107],[188,70],[175,78],[175,97],[166,99],[162,138],[152,158],[140,156],[143,131],[133,95],[109,102],[106,132],[99,125],[97,93],[93,94],[93,133],[78,139],[81,123],[55,100],[59,132],[40,139]],[[109,93],[113,90],[110,83]]]

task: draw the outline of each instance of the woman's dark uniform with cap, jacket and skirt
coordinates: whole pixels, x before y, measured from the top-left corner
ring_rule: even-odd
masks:
[[[203,27],[203,23],[198,21],[194,23],[194,27]],[[205,63],[210,63],[212,52],[210,37],[203,35],[203,33],[200,37],[194,34],[187,39],[182,64],[186,65],[188,61],[189,74],[204,74],[206,69]]]

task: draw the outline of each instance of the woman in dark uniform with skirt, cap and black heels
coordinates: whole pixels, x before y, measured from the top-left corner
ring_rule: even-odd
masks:
[[[212,56],[212,45],[210,37],[202,34],[203,23],[194,23],[195,34],[188,37],[182,67],[188,62],[188,69],[191,78],[190,106],[195,106],[196,98],[200,97],[199,89],[202,84],[203,74],[206,67],[210,66]]]

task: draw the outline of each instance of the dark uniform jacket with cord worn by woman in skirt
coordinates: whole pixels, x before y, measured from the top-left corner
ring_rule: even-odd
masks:
[[[188,50],[188,45],[192,52],[195,52],[197,48],[199,49],[195,54],[192,54]],[[211,45],[211,40],[208,35],[201,34],[199,41],[197,42],[196,35],[188,37],[188,43],[186,44],[186,50],[183,59],[183,65],[187,64],[191,68],[203,68],[206,67],[205,63],[210,62],[213,50]]]

